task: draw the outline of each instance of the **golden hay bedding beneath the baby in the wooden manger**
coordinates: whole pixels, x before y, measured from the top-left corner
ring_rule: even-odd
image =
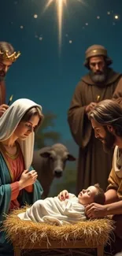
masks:
[[[6,236],[20,248],[24,248],[26,244],[31,249],[33,245],[46,241],[47,247],[50,240],[54,240],[61,245],[72,240],[83,241],[84,244],[90,247],[102,245],[109,241],[109,235],[113,230],[113,221],[110,219],[98,219],[94,221],[80,221],[77,224],[65,224],[64,226],[55,226],[45,223],[36,223],[32,221],[22,221],[17,217],[21,210],[13,210],[6,221],[3,222],[3,229],[6,231]]]

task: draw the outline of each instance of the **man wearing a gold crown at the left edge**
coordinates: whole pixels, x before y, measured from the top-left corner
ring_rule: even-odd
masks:
[[[0,42],[0,117],[9,107],[6,105],[6,73],[19,56],[20,52],[16,52],[10,43]]]

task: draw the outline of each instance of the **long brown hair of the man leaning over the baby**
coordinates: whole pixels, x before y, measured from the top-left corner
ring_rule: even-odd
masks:
[[[105,99],[99,102],[89,117],[103,126],[112,125],[116,135],[122,137],[122,107],[116,101]]]

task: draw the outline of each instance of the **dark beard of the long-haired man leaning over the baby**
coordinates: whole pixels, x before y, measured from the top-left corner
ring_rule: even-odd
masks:
[[[103,149],[106,153],[109,153],[109,151],[111,151],[115,145],[116,136],[113,135],[111,132],[109,132],[107,128],[105,128],[105,132],[106,132],[105,138],[102,139],[99,137],[98,139],[100,139],[101,141],[104,141],[104,143],[102,143]]]

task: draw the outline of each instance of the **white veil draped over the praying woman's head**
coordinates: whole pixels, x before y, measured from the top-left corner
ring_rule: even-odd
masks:
[[[9,109],[0,118],[0,141],[9,139],[17,128],[24,114],[32,107],[38,107],[42,113],[42,106],[32,102],[28,98],[20,98],[13,102]],[[17,139],[24,156],[25,169],[31,165],[34,150],[35,133],[31,132],[25,140]]]

